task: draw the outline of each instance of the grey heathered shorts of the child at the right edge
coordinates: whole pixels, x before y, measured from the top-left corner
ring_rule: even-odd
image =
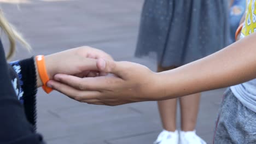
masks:
[[[256,143],[256,113],[245,107],[230,88],[224,93],[213,143]]]

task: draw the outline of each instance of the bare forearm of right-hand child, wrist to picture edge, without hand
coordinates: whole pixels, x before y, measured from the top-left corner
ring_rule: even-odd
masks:
[[[256,35],[174,70],[158,73],[161,99],[246,82],[256,77]]]

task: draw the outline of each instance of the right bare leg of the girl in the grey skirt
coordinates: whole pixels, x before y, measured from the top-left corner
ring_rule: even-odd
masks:
[[[180,98],[182,121],[181,127],[183,131],[195,130],[200,97],[201,93],[196,93]]]

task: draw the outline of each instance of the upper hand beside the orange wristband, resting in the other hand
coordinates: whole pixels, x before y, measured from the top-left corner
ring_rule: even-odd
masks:
[[[97,70],[97,58],[113,60],[111,56],[101,50],[82,46],[45,56],[46,71],[50,79],[53,79],[55,74],[84,77],[90,74],[90,70]],[[38,87],[42,86],[39,77],[37,85]]]

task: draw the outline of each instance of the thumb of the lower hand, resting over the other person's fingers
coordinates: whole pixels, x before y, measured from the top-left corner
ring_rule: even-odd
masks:
[[[120,77],[122,75],[122,72],[124,72],[125,70],[120,62],[115,62],[102,58],[98,59],[97,68],[103,73],[111,73]]]

